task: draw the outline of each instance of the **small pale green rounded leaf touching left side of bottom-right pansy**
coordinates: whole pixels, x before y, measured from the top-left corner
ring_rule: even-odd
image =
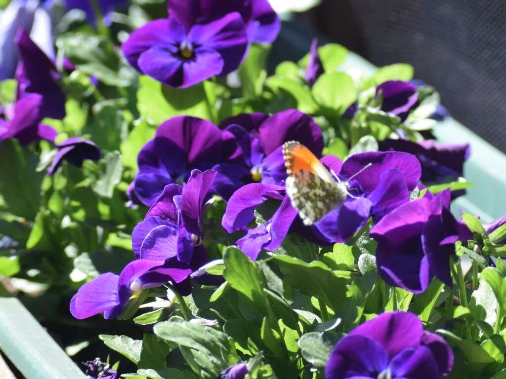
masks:
[[[298,342],[302,356],[317,368],[325,367],[336,337],[335,333],[306,333]]]

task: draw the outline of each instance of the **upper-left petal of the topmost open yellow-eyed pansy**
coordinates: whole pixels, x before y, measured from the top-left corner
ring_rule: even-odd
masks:
[[[166,46],[173,53],[177,53],[179,44],[185,39],[183,25],[175,17],[148,22],[135,30],[129,39],[123,43],[121,49],[126,60],[137,70],[139,57],[153,46]]]

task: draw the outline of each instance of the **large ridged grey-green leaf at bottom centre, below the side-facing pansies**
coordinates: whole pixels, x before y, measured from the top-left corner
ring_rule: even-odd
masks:
[[[162,340],[178,344],[202,378],[215,379],[239,361],[233,341],[219,330],[186,321],[164,321],[154,326],[154,332]]]

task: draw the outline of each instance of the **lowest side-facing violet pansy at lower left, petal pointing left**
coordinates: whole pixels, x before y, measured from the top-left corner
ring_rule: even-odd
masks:
[[[108,272],[82,285],[70,302],[70,313],[80,320],[102,312],[104,318],[118,317],[129,299],[139,296],[143,290],[163,286],[168,281],[180,283],[191,272],[189,265],[135,260],[119,275]]]

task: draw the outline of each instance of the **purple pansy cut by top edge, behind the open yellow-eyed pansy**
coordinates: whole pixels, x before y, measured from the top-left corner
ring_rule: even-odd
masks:
[[[188,31],[201,20],[218,19],[238,12],[246,26],[249,42],[271,43],[279,34],[281,21],[267,0],[169,0],[168,13]]]

